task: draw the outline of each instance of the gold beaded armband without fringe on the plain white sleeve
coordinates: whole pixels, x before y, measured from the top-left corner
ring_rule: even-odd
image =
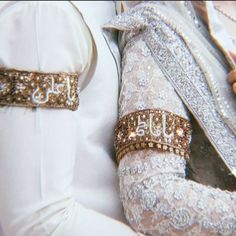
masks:
[[[0,105],[76,110],[79,105],[78,77],[78,73],[0,68]]]

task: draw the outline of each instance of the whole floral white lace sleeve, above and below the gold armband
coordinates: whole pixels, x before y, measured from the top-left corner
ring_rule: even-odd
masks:
[[[122,67],[120,117],[156,108],[189,119],[141,37],[126,45]],[[186,180],[185,169],[184,158],[153,150],[121,160],[121,199],[130,225],[153,236],[235,235],[236,193]]]

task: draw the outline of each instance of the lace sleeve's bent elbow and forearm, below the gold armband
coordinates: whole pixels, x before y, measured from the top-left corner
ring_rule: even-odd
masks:
[[[125,168],[132,168],[133,159],[144,169],[150,161],[146,154],[143,158],[143,153],[136,152],[119,166],[121,199],[135,230],[150,236],[234,235],[236,195],[168,172],[169,167],[177,166],[175,159],[166,167],[169,157],[156,156],[159,167],[123,175]]]

